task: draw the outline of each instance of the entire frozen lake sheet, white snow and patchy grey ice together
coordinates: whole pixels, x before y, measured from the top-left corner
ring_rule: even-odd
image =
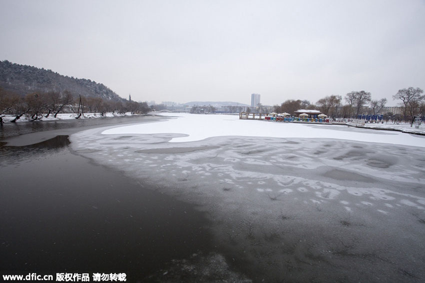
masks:
[[[425,137],[164,114],[92,129],[73,149],[194,203],[255,282],[421,282]]]

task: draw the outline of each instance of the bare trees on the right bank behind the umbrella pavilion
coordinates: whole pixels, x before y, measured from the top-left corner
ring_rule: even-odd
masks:
[[[417,116],[425,115],[425,95],[421,95],[423,90],[416,87],[409,87],[398,90],[392,96],[393,100],[401,100],[403,114],[401,120],[414,121]],[[342,102],[345,104],[342,104]],[[329,117],[353,118],[362,114],[386,114],[382,113],[382,108],[387,103],[386,98],[373,100],[370,92],[364,90],[351,91],[343,98],[340,95],[329,95],[323,97],[315,104],[311,104],[308,100],[286,100],[281,105],[274,105],[273,110],[277,113],[287,112],[293,114],[298,109],[317,109]]]

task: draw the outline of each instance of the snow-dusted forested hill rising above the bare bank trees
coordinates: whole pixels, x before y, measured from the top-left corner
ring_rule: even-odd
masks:
[[[124,100],[101,83],[60,75],[52,70],[0,61],[0,87],[21,95],[40,91],[70,91],[73,95],[100,97],[108,100]]]

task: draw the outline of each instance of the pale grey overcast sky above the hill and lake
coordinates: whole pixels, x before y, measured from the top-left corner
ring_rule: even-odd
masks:
[[[133,100],[316,102],[425,88],[424,0],[0,0],[0,60]]]

